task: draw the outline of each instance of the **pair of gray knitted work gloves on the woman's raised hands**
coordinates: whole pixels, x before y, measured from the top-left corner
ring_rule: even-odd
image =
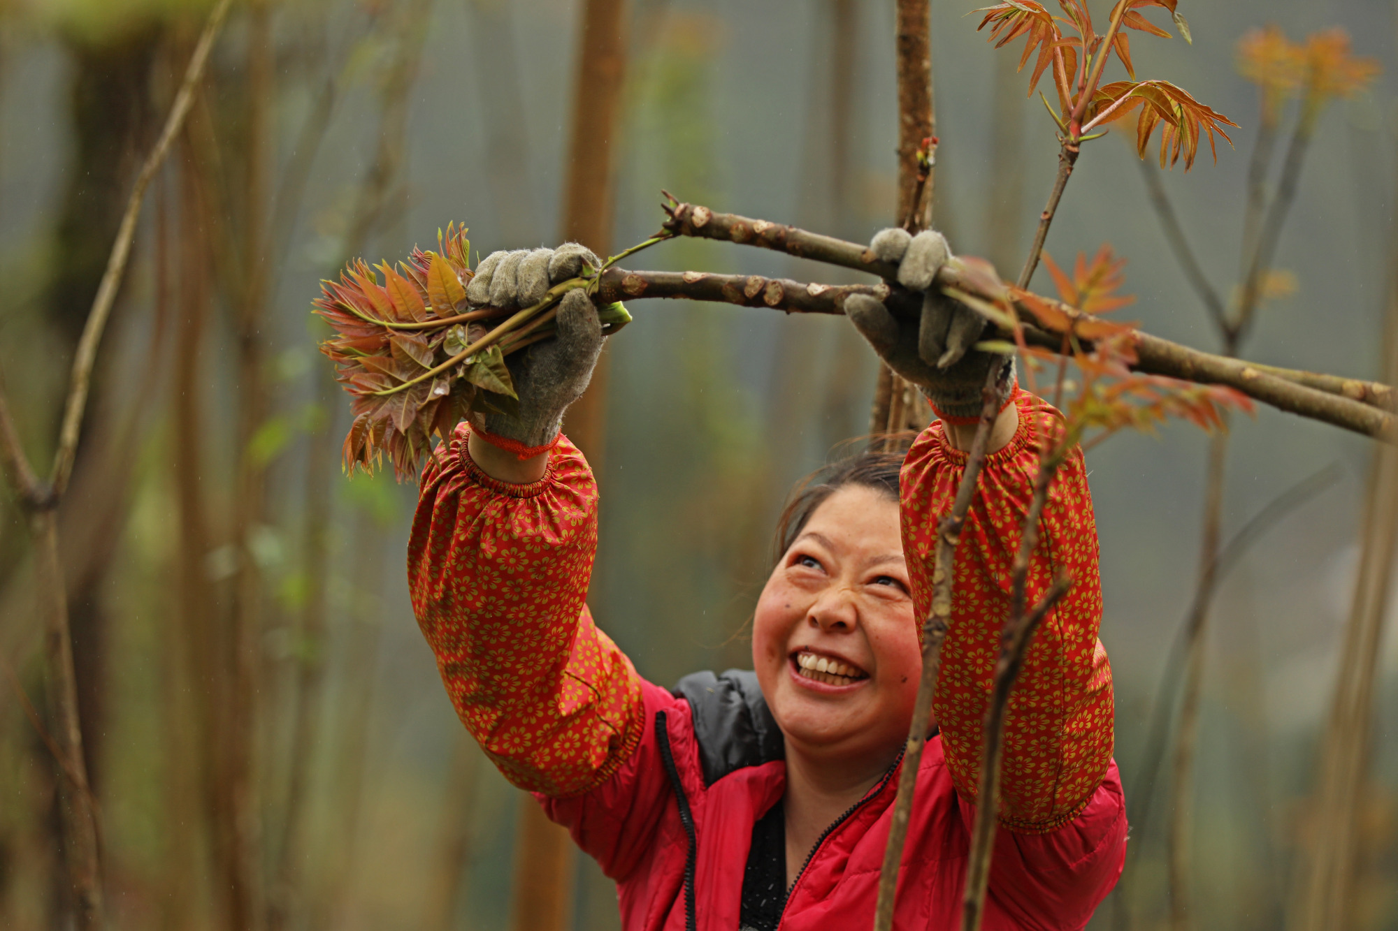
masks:
[[[846,315],[879,358],[916,384],[942,418],[969,421],[980,414],[981,389],[993,366],[1001,397],[1008,396],[1012,359],[974,348],[986,329],[984,317],[935,287],[937,273],[951,259],[946,239],[932,231],[911,236],[903,229],[885,229],[874,236],[870,249],[898,266],[900,285],[923,294],[921,313],[913,319],[895,316],[868,295],[846,298]],[[597,270],[601,261],[577,243],[493,252],[477,268],[466,296],[474,306],[528,308],[584,267]],[[597,308],[583,291],[563,295],[556,327],[554,338],[506,356],[519,415],[485,415],[487,433],[526,452],[547,449],[556,440],[563,411],[591,380],[605,338]]]

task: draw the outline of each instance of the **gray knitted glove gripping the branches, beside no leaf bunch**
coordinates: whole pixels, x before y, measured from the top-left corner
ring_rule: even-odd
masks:
[[[884,261],[898,263],[900,285],[924,292],[916,324],[900,322],[867,295],[844,301],[850,322],[888,368],[921,389],[944,418],[980,415],[980,390],[991,366],[1000,366],[1001,397],[1007,397],[1014,384],[1014,356],[973,349],[986,330],[986,319],[934,284],[951,259],[946,238],[934,231],[910,236],[905,229],[884,229],[870,242],[870,250]]]

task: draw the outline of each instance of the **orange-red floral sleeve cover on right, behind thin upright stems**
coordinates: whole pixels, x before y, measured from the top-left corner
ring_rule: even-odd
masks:
[[[1011,566],[1033,496],[1039,445],[1061,415],[1016,390],[1019,429],[990,454],[956,549],[952,618],[932,712],[958,794],[976,800],[981,726],[1009,612]],[[903,551],[918,616],[932,601],[937,523],[956,498],[966,453],[932,424],[909,450],[902,474]],[[1029,604],[1058,572],[1068,596],[1044,618],[1009,699],[1001,822],[1039,833],[1071,821],[1092,798],[1111,762],[1111,668],[1097,640],[1102,582],[1097,528],[1082,450],[1075,449],[1050,486],[1040,541],[1029,570]]]

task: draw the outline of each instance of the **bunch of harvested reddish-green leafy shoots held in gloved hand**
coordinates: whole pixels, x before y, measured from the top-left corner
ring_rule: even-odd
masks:
[[[354,398],[345,470],[372,472],[387,452],[398,481],[412,478],[433,433],[446,439],[471,411],[514,414],[519,397],[505,356],[552,335],[565,294],[596,291],[598,270],[589,268],[523,310],[471,309],[470,252],[466,228],[450,224],[438,232],[436,252],[414,249],[397,268],[356,259],[338,282],[322,282],[315,313],[336,334],[320,351]],[[619,303],[600,316],[607,334],[630,320]]]

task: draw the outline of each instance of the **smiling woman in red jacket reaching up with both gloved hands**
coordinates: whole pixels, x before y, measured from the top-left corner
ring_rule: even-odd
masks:
[[[938,233],[871,247],[925,291]],[[534,302],[597,259],[576,245],[488,256],[477,303]],[[597,486],[559,433],[603,337],[566,295],[558,337],[510,370],[517,417],[463,424],[436,450],[408,549],[414,609],[457,713],[500,772],[618,883],[628,931],[870,928],[931,602],[935,527],[965,468],[980,386],[991,432],[956,561],[951,629],[921,760],[895,927],[959,927],[981,720],[1009,565],[1057,412],[974,351],[979,317],[928,292],[916,327],[872,299],[847,312],[941,417],[902,464],[867,454],[787,509],[758,600],[754,672],[642,679],[584,604]],[[916,331],[914,331],[916,329]],[[1081,928],[1120,875],[1125,808],[1111,762],[1111,675],[1097,642],[1097,540],[1081,453],[1054,482],[1029,596],[1074,584],[1044,621],[1009,705],[1001,829],[983,927]]]

